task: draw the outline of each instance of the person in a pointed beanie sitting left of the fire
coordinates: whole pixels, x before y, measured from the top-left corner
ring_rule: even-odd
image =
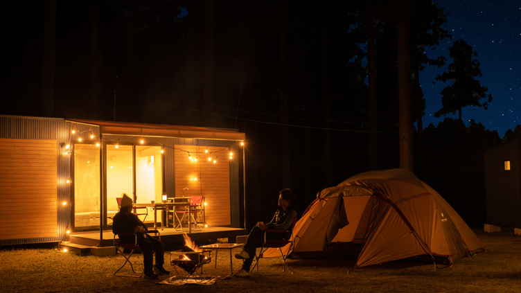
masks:
[[[148,236],[146,232],[148,228],[139,220],[139,217],[132,213],[132,199],[126,194],[122,194],[121,208],[116,215],[114,215],[114,222],[112,224],[112,232],[119,233],[136,233],[137,244],[143,253],[143,263],[145,265],[145,278],[157,278],[158,274],[168,275],[164,269],[164,252],[165,245],[163,242]],[[119,235],[118,235],[119,236]],[[134,235],[119,236],[121,243],[134,243]],[[152,266],[154,252],[156,251],[156,264]],[[157,274],[156,274],[157,273]]]

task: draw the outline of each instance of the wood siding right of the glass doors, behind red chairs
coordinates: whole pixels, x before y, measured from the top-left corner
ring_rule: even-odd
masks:
[[[206,224],[209,226],[229,226],[230,220],[230,159],[228,148],[196,145],[175,146],[175,196],[203,195],[206,201]],[[197,162],[188,159],[188,152]],[[213,158],[216,163],[213,163]],[[197,180],[195,178],[197,177]]]

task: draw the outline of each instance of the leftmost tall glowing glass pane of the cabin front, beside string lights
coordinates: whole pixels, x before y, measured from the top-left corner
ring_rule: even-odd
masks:
[[[100,226],[100,148],[74,145],[74,227]]]

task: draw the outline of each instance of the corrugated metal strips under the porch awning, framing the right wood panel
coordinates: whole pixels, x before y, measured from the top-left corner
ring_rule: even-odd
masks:
[[[124,141],[125,143],[134,143],[140,145],[141,139],[144,144],[159,143],[165,145],[165,190],[168,195],[175,195],[175,145],[202,145],[202,146],[221,146],[231,148],[236,145],[236,141],[218,141],[211,139],[177,139],[167,137],[137,137],[122,135],[104,135],[103,140]],[[242,150],[240,150],[242,152]],[[234,152],[238,152],[238,146]],[[172,154],[172,155],[170,155]],[[241,228],[244,220],[240,219],[240,190],[239,190],[239,160],[230,161],[230,215],[231,227]],[[242,161],[240,162],[242,163]]]

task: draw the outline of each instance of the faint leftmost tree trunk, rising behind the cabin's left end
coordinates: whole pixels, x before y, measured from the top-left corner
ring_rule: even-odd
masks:
[[[45,1],[44,48],[42,64],[42,96],[40,113],[54,116],[54,85],[56,59],[56,0]]]

